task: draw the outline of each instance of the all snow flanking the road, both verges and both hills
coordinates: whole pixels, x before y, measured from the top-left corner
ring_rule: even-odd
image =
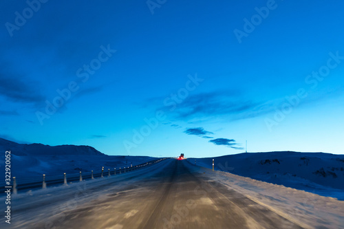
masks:
[[[11,150],[11,175],[16,176],[18,182],[35,178],[41,180],[43,173],[49,178],[63,173],[68,176],[78,174],[79,171],[96,172],[103,166],[107,175],[107,168],[113,173],[114,168],[131,164],[134,166],[155,159],[143,156],[108,156],[89,146],[54,148],[63,149],[63,155],[56,154],[56,151],[49,154],[42,150],[51,149],[50,147],[41,144],[17,144],[0,139],[0,150]],[[41,153],[32,153],[36,150]],[[211,171],[213,159],[214,172]],[[197,166],[194,165],[195,160]],[[106,194],[116,193],[121,189],[125,191],[125,188],[138,180],[160,173],[168,164],[166,161],[118,176],[12,195],[12,205],[17,209],[25,209],[26,206],[31,208],[32,203],[44,204],[39,211],[25,211],[25,214],[14,212],[15,226],[25,228],[30,220],[37,218],[63,218],[66,212],[83,206],[91,199],[101,199]],[[186,162],[189,162],[185,164],[193,173],[198,173],[208,181],[219,182],[228,190],[236,190],[303,228],[343,228],[344,155],[288,151],[241,153],[222,157],[188,158]],[[4,163],[3,158],[0,163]],[[4,204],[5,199],[1,196],[0,201]],[[133,209],[128,212],[127,217],[136,213]],[[47,223],[49,228],[49,221]]]

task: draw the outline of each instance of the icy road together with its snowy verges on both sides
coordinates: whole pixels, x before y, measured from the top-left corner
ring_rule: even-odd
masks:
[[[3,198],[0,199],[4,201]],[[344,201],[186,161],[13,197],[1,228],[343,228]]]

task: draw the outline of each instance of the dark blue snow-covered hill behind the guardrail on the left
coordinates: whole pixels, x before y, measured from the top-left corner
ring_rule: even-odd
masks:
[[[154,160],[145,156],[109,156],[91,146],[47,146],[43,144],[18,144],[0,138],[0,152],[11,151],[11,175],[17,179],[45,174],[63,175],[101,171],[104,166],[111,171],[115,167],[142,164]],[[0,158],[4,167],[5,157]]]

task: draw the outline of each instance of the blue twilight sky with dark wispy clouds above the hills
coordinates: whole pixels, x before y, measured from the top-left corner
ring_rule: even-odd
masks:
[[[344,153],[344,3],[3,1],[0,138]]]

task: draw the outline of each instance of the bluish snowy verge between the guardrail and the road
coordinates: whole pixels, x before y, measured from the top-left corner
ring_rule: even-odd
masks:
[[[63,221],[71,210],[83,208],[83,205],[98,199],[123,191],[125,187],[140,180],[160,173],[171,161],[162,162],[110,177],[89,179],[74,182],[68,186],[55,186],[40,190],[28,191],[12,195],[12,223],[11,228],[32,227],[37,221],[45,220],[45,228],[54,228],[53,222]],[[4,197],[0,198],[5,202]],[[1,228],[0,224],[0,228]]]

